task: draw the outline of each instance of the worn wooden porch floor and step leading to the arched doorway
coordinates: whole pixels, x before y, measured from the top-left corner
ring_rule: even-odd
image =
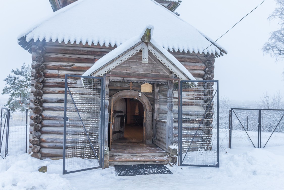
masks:
[[[109,166],[130,164],[168,164],[166,152],[154,144],[113,143]]]

